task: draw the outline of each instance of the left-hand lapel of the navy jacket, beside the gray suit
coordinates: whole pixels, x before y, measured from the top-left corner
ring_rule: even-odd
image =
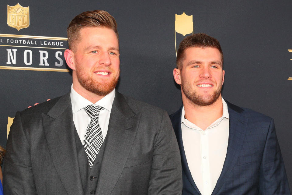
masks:
[[[198,187],[196,186],[192,174],[189,170],[188,162],[186,160],[186,153],[183,147],[183,142],[182,142],[182,125],[181,125],[181,114],[182,114],[182,107],[174,114],[171,116],[171,122],[173,129],[176,133],[176,139],[179,144],[179,151],[182,159],[182,169],[186,175],[186,178],[189,180],[189,183],[192,184],[192,186],[195,188],[198,194],[201,194]]]

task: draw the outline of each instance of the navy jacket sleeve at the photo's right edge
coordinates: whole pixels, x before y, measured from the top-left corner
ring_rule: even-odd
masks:
[[[290,194],[285,166],[271,119],[259,174],[259,194]]]

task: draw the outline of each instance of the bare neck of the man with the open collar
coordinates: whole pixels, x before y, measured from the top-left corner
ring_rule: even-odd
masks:
[[[213,104],[207,106],[195,105],[186,98],[182,99],[182,103],[185,109],[185,118],[203,130],[206,130],[223,115],[221,95]]]

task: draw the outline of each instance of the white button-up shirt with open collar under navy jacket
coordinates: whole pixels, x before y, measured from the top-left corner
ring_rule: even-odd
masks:
[[[182,142],[189,170],[202,195],[210,195],[221,174],[229,137],[229,114],[224,99],[223,115],[206,130],[184,118],[182,107]]]

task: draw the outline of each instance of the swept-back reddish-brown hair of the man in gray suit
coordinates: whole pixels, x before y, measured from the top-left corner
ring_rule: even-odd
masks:
[[[116,20],[108,12],[103,10],[87,11],[75,16],[67,28],[68,46],[73,50],[80,39],[79,31],[85,27],[106,27],[116,33],[119,40]]]

